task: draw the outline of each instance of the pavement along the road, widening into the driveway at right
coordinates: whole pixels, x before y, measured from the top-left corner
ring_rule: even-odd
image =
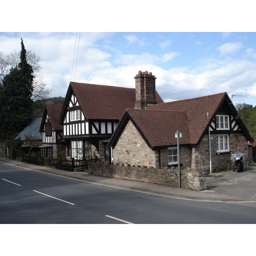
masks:
[[[220,201],[220,202],[256,202],[256,191],[254,184],[256,181],[256,167],[246,167],[243,172],[233,172],[228,170],[226,172],[212,173],[209,177],[206,177],[207,190],[194,191],[191,189],[182,189],[172,186],[164,186],[153,183],[121,180],[111,177],[102,177],[96,175],[89,175],[85,172],[67,172],[58,169],[52,169],[44,166],[36,166],[29,163],[19,162],[17,160],[10,159],[8,157],[0,157],[0,161],[9,163],[15,166],[20,166],[30,170],[46,172],[63,177],[69,177],[77,180],[82,180],[91,183],[104,184],[107,186],[121,187],[124,189],[137,190],[141,192],[148,192],[154,194],[166,195],[174,198],[204,200],[204,201]],[[251,182],[251,186],[247,186],[247,189],[241,187],[246,182]],[[238,188],[239,187],[239,188]],[[252,189],[248,190],[248,187]],[[238,191],[239,189],[239,191]]]

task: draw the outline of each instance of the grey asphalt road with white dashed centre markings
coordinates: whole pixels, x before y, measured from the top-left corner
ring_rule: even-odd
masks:
[[[256,224],[256,202],[124,189],[0,162],[0,224]]]

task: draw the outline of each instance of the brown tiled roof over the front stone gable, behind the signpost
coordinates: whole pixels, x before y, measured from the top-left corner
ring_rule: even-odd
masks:
[[[177,145],[175,138],[177,130],[182,133],[180,144],[190,142],[185,111],[128,109],[127,112],[151,147]]]

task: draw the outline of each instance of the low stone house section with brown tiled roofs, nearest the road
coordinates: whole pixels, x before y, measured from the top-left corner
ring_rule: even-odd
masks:
[[[251,139],[227,93],[218,93],[127,109],[109,146],[113,164],[171,167],[180,157],[183,169],[212,172],[232,166],[232,152],[244,153],[247,161]]]

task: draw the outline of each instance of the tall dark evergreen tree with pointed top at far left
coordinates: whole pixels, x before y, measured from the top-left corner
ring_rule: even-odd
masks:
[[[21,39],[20,63],[4,76],[0,86],[1,138],[12,138],[31,121],[33,101],[33,69],[26,60]]]

